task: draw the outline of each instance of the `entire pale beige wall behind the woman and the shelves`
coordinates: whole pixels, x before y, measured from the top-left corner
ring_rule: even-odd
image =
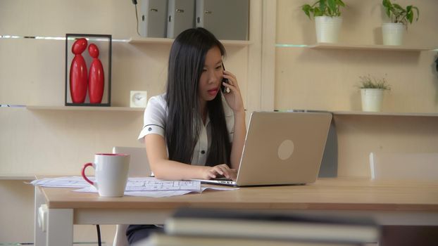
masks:
[[[263,6],[271,6],[269,2],[273,0],[263,2]],[[266,22],[275,22],[277,43],[315,42],[313,22],[299,11],[304,2],[277,1],[277,20],[269,20],[260,8],[254,11],[253,7],[261,6],[261,1],[251,1],[254,12],[250,15],[253,23],[250,37],[254,43],[249,47],[226,46],[227,69],[239,78],[244,101],[250,110],[261,108],[263,95],[263,98],[273,99],[275,108],[358,110],[358,91],[354,87],[358,76],[387,73],[394,89],[384,103],[384,110],[438,111],[438,79],[432,72],[435,51],[397,53],[276,48],[275,64],[270,64],[275,70],[275,79],[261,82],[266,70],[261,66],[263,45],[273,45],[262,45],[259,34]],[[345,11],[346,24],[341,41],[346,44],[378,43],[379,34],[375,30],[382,18],[379,3],[380,0],[346,1],[349,8]],[[406,44],[438,46],[435,26],[438,15],[434,13],[437,4],[435,0],[415,1],[420,7],[420,20],[409,27]],[[272,28],[272,25],[267,26]],[[65,33],[113,34],[113,39],[135,37],[134,6],[129,0],[0,1],[0,35],[64,37]],[[263,33],[272,32],[265,30]],[[63,105],[64,45],[64,41],[58,40],[0,39],[0,104]],[[113,106],[128,106],[131,90],[148,91],[149,96],[164,91],[169,48],[168,44],[113,42]],[[262,87],[272,87],[273,95],[270,91],[261,91]],[[413,94],[409,95],[409,91]],[[363,157],[369,150],[438,152],[435,147],[438,146],[438,132],[429,119],[370,121],[362,117],[337,117],[335,120],[339,148],[342,146],[338,153],[342,176],[368,176]],[[142,112],[0,108],[0,122],[0,176],[79,174],[81,165],[91,160],[96,152],[111,151],[113,145],[141,146],[136,137],[142,127]],[[379,128],[380,122],[382,128]],[[422,131],[415,131],[417,124]],[[394,131],[385,134],[393,128]],[[0,205],[8,208],[1,214],[0,242],[32,241],[32,228],[27,227],[33,225],[32,187],[20,181],[0,181],[0,196]],[[113,227],[105,230],[104,237],[109,241]],[[75,234],[75,240],[95,240],[91,226],[75,232],[79,233]]]

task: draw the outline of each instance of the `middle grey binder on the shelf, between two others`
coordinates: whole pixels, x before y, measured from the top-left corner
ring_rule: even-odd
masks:
[[[194,27],[195,0],[169,0],[168,38],[175,38],[182,31]]]

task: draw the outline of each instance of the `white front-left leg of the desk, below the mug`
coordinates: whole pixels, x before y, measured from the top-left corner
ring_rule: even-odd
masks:
[[[73,245],[73,209],[49,209],[47,245]]]

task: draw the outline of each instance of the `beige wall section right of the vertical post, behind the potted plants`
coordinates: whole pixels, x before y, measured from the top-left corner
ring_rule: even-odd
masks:
[[[307,0],[277,1],[277,44],[315,44],[315,22],[300,6]],[[382,44],[381,0],[346,0],[340,44]],[[438,48],[438,1],[414,4],[420,19],[408,27],[406,46]],[[386,77],[383,112],[438,112],[437,51],[276,48],[275,108],[361,111],[359,76]],[[334,117],[339,176],[368,177],[368,155],[438,153],[438,117]]]

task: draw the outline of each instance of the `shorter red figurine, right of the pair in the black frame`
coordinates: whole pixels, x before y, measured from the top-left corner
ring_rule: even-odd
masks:
[[[96,44],[88,46],[89,56],[93,58],[92,65],[89,67],[88,77],[88,96],[89,103],[101,103],[102,96],[104,96],[104,67],[101,60],[99,60],[99,48]]]

